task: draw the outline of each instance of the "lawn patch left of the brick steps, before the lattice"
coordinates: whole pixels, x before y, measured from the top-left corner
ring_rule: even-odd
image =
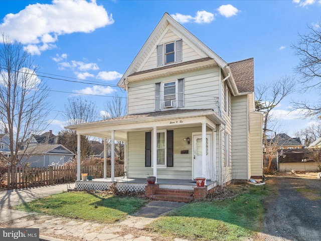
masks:
[[[90,221],[113,223],[125,219],[147,203],[136,197],[65,192],[15,206],[27,212],[39,212]]]

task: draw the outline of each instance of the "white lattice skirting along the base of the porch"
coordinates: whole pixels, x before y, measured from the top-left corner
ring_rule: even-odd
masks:
[[[107,190],[113,182],[97,182],[97,181],[76,181],[75,189],[77,190]],[[116,187],[120,192],[138,192],[145,191],[145,183],[124,183],[116,182]]]

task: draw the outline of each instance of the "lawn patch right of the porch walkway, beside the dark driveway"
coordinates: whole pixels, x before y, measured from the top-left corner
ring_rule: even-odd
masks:
[[[147,229],[189,240],[240,240],[263,228],[263,199],[273,190],[251,185],[235,198],[193,202],[158,218]]]

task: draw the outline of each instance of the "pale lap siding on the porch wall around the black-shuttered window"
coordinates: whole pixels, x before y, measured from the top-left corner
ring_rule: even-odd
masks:
[[[174,167],[158,168],[158,178],[192,179],[192,143],[187,144],[184,138],[201,131],[201,127],[174,129]],[[189,154],[181,154],[181,150],[188,150]],[[128,133],[127,172],[129,178],[145,178],[153,173],[151,167],[145,167],[145,132]]]

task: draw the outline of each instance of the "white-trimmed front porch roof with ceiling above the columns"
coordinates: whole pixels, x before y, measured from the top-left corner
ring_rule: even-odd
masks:
[[[169,110],[145,114],[126,115],[105,121],[65,127],[80,135],[111,139],[115,131],[115,140],[127,141],[127,132],[157,129],[175,129],[201,126],[206,123],[212,130],[216,125],[224,124],[212,109],[207,110]]]

